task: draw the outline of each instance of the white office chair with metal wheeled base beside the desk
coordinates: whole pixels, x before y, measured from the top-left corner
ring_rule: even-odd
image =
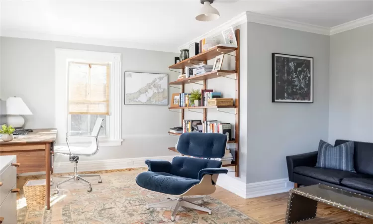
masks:
[[[79,160],[79,156],[93,156],[98,152],[99,146],[98,146],[98,134],[100,132],[101,125],[103,119],[102,118],[97,118],[93,130],[91,132],[91,135],[71,135],[72,132],[67,132],[66,133],[66,143],[67,146],[56,146],[54,148],[54,153],[55,154],[63,154],[63,155],[69,155],[70,161],[74,163],[74,175],[73,176],[62,176],[62,177],[53,177],[51,178],[51,185],[53,185],[53,179],[55,178],[67,178],[66,180],[63,180],[59,182],[56,186],[56,189],[54,190],[55,194],[58,194],[58,187],[71,180],[82,180],[84,182],[87,182],[89,184],[87,191],[91,192],[92,187],[91,183],[84,179],[83,177],[98,177],[98,183],[102,183],[101,176],[100,175],[84,175],[84,174],[78,174],[78,168],[77,168],[77,163]],[[71,146],[71,138],[76,139],[75,143],[87,143],[91,142],[91,145],[89,147],[76,147],[76,146]],[[69,140],[70,139],[70,140]]]

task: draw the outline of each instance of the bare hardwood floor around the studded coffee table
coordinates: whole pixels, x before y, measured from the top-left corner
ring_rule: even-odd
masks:
[[[211,196],[256,219],[261,224],[283,224],[285,222],[288,193],[243,199],[217,187],[216,192]],[[373,220],[319,203],[316,218],[299,224],[373,224]]]

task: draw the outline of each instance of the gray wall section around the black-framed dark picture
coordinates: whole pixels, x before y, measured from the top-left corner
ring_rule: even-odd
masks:
[[[272,103],[272,53],[314,58],[313,104]],[[247,183],[287,178],[285,156],[328,139],[328,73],[329,36],[248,23]]]

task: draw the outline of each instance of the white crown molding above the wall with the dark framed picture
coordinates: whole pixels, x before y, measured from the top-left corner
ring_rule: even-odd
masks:
[[[294,30],[299,30],[299,31],[304,31],[304,32],[309,32],[309,33],[317,33],[317,34],[322,34],[322,35],[330,34],[330,28],[325,27],[325,26],[317,26],[317,25],[297,22],[297,21],[288,20],[288,19],[281,19],[281,18],[277,18],[274,16],[258,14],[258,13],[254,13],[250,11],[246,11],[246,15],[247,15],[248,22],[255,22],[255,23],[260,23],[260,24],[265,24],[265,25],[270,25],[270,26],[278,26],[282,28],[294,29]]]

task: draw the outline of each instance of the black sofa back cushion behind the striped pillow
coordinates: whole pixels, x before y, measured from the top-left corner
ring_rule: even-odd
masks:
[[[336,140],[335,146],[348,142],[348,140]],[[354,141],[354,166],[358,173],[373,176],[373,143]]]

